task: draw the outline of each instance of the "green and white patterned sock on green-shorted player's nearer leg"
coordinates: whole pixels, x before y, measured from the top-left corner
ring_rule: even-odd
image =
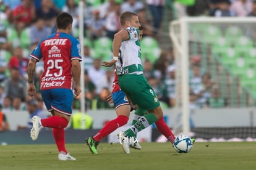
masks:
[[[155,121],[157,121],[156,116],[153,113],[148,113],[142,116],[132,127],[127,129],[124,134],[126,134],[127,137],[136,137],[137,132],[142,131],[150,126],[150,124],[155,123]]]

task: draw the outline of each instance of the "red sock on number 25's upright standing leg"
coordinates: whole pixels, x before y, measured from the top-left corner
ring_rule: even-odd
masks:
[[[58,147],[59,152],[67,153],[65,148],[65,132],[64,128],[53,128],[53,137]]]

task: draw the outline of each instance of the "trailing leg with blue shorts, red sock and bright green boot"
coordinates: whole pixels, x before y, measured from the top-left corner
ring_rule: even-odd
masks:
[[[98,154],[96,147],[101,139],[111,134],[111,132],[115,131],[118,127],[124,126],[129,120],[130,105],[124,92],[114,92],[112,98],[116,108],[117,118],[109,121],[95,136],[86,139],[90,151],[94,154]]]

